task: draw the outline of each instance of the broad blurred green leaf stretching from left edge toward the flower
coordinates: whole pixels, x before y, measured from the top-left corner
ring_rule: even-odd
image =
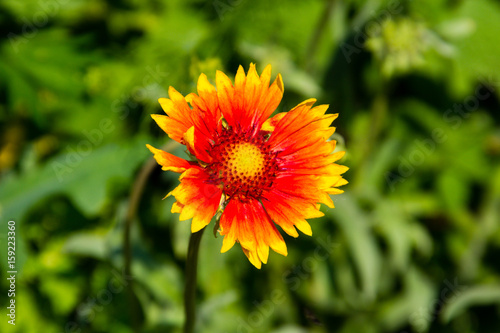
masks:
[[[106,202],[106,184],[115,178],[132,179],[137,165],[149,155],[144,146],[146,139],[137,138],[126,144],[109,144],[90,150],[87,156],[78,148],[68,147],[70,152],[59,155],[39,167],[17,177],[6,179],[0,188],[0,218],[16,221],[17,230],[29,209],[50,195],[66,194],[87,216],[95,216]],[[26,260],[22,249],[22,233],[18,232],[17,268]],[[0,246],[6,247],[6,238],[0,238]],[[5,265],[6,257],[2,256]]]

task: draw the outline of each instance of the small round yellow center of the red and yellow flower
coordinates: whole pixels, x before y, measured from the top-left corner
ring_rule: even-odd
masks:
[[[265,158],[259,147],[242,142],[228,151],[228,169],[237,177],[250,178],[262,173]]]

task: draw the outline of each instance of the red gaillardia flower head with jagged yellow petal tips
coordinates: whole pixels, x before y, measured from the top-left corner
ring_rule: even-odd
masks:
[[[338,114],[308,99],[269,118],[283,96],[281,75],[270,79],[271,66],[259,77],[251,64],[247,75],[239,67],[234,85],[217,71],[217,88],[205,74],[198,94],[183,97],[170,87],[170,99],[159,99],[167,115],[152,117],[192,160],[147,145],[163,170],[181,173],[167,195],[177,200],[172,212],[192,219],[192,232],[217,215],[221,252],[239,242],[257,268],[267,263],[269,247],[287,255],[276,225],[293,237],[296,229],[312,234],[306,220],[323,216],[320,203],[333,208],[330,195],[343,192],[337,187],[347,183],[341,174],[348,169],[334,163],[344,152],[333,153],[336,142],[329,141]]]

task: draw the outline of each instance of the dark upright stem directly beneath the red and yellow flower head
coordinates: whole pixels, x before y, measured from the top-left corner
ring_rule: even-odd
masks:
[[[186,286],[184,289],[184,333],[193,333],[196,323],[196,276],[198,273],[198,252],[205,228],[191,234],[186,261]]]

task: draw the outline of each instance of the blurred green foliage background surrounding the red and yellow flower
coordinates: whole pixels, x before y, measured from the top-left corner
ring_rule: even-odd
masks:
[[[169,86],[273,66],[315,97],[349,184],[255,269],[206,232],[197,332],[500,332],[500,4],[0,1],[2,332],[180,332],[189,222]],[[16,222],[16,326],[7,221]]]

